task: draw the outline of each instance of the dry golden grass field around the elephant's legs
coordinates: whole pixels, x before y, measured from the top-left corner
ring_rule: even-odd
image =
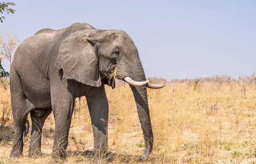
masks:
[[[219,87],[219,88],[218,88]],[[256,85],[200,83],[196,87],[167,83],[148,89],[154,148],[143,164],[253,164],[256,163]],[[143,153],[143,133],[131,89],[106,86],[110,115],[108,151],[111,164],[136,164]],[[44,164],[51,160],[54,118],[44,124],[43,157],[28,158],[30,134],[24,139],[23,157],[10,159],[14,134],[9,89],[0,89],[0,164]],[[9,112],[9,113],[6,113]],[[8,119],[9,118],[9,119]],[[29,117],[30,119],[30,117]],[[77,99],[70,128],[66,164],[106,163],[88,155],[93,132],[86,99]]]

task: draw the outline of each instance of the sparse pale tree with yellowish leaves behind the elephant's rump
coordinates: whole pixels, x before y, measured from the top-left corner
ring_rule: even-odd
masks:
[[[0,56],[9,61],[10,67],[12,65],[14,52],[19,46],[19,43],[19,38],[12,35],[10,30],[7,32],[6,29],[4,29],[4,33],[0,33]]]

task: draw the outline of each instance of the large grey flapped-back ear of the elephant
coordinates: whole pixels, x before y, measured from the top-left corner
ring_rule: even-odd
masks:
[[[96,29],[75,32],[62,41],[56,65],[64,79],[73,79],[89,86],[101,86],[99,59],[90,35]]]

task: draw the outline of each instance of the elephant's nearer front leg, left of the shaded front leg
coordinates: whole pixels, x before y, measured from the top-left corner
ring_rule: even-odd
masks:
[[[52,147],[52,159],[66,159],[68,133],[74,109],[74,98],[70,93],[60,92],[52,95],[52,111],[55,118],[55,135]]]

